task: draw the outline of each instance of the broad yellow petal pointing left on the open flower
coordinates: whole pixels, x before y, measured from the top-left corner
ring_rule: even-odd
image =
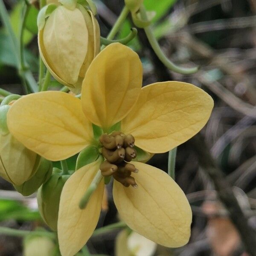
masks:
[[[63,160],[78,153],[93,138],[91,123],[81,101],[70,94],[47,91],[17,100],[7,114],[13,136],[48,160]]]

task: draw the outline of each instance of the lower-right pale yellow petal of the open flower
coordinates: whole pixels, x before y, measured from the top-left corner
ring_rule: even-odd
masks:
[[[165,172],[132,162],[138,188],[114,180],[113,198],[120,218],[134,231],[166,247],[189,241],[192,212],[183,191]]]

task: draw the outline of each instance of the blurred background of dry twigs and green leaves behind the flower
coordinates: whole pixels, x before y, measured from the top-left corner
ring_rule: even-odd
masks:
[[[16,32],[21,1],[4,1]],[[95,0],[95,3],[101,34],[106,36],[124,3],[123,0]],[[125,250],[123,247],[133,247],[137,242],[136,246],[151,249],[130,255],[249,256],[248,247],[256,251],[253,244],[256,241],[256,0],[145,0],[144,3],[146,9],[156,11],[154,33],[165,54],[183,67],[199,65],[201,69],[186,76],[170,72],[139,29],[129,46],[143,62],[143,84],[186,81],[206,90],[215,101],[205,128],[177,148],[175,180],[192,206],[192,236],[186,246],[169,249],[153,246],[143,239],[128,241],[120,238],[120,230],[114,230],[94,236],[87,246],[93,255],[111,256],[115,248],[121,246]],[[35,78],[37,14],[36,7],[31,9],[23,38],[26,60]],[[128,19],[119,37],[127,35],[132,26]],[[15,56],[3,28],[0,29],[0,87],[23,93]],[[51,88],[60,87],[52,79]],[[70,169],[74,169],[74,164],[75,158],[71,158]],[[168,153],[154,155],[149,164],[167,172]],[[45,227],[35,196],[24,198],[0,178],[0,226],[21,230]],[[98,227],[119,221],[111,183],[105,199]],[[22,255],[22,248],[21,238],[0,235],[0,256]]]

